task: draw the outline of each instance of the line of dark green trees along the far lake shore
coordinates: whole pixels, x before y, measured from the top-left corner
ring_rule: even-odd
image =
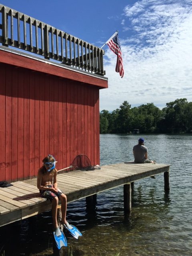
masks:
[[[169,102],[160,110],[153,103],[131,108],[124,101],[111,113],[100,112],[100,133],[192,133],[192,102],[186,98]]]

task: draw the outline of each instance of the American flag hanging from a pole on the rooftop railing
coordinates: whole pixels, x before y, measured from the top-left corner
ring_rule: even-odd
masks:
[[[114,54],[117,55],[117,63],[116,63],[115,71],[119,72],[122,78],[124,75],[124,69],[123,69],[121,46],[120,46],[118,34],[116,34],[116,36],[114,36],[107,44],[110,50],[112,50],[112,52],[114,52]]]

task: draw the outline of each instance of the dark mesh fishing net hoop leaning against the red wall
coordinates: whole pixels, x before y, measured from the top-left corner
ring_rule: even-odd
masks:
[[[84,154],[80,154],[76,156],[71,166],[73,170],[81,170],[81,171],[94,170],[94,166],[91,165],[89,158]]]

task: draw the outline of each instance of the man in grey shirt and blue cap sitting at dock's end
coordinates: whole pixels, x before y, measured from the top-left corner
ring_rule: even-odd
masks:
[[[147,158],[148,149],[144,146],[144,138],[138,140],[138,144],[133,147],[134,162],[139,164],[152,163],[155,164],[155,160],[152,161]]]

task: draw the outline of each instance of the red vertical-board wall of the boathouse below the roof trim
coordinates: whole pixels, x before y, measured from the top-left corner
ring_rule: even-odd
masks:
[[[0,180],[33,178],[48,154],[99,164],[98,86],[0,63],[0,110]]]

